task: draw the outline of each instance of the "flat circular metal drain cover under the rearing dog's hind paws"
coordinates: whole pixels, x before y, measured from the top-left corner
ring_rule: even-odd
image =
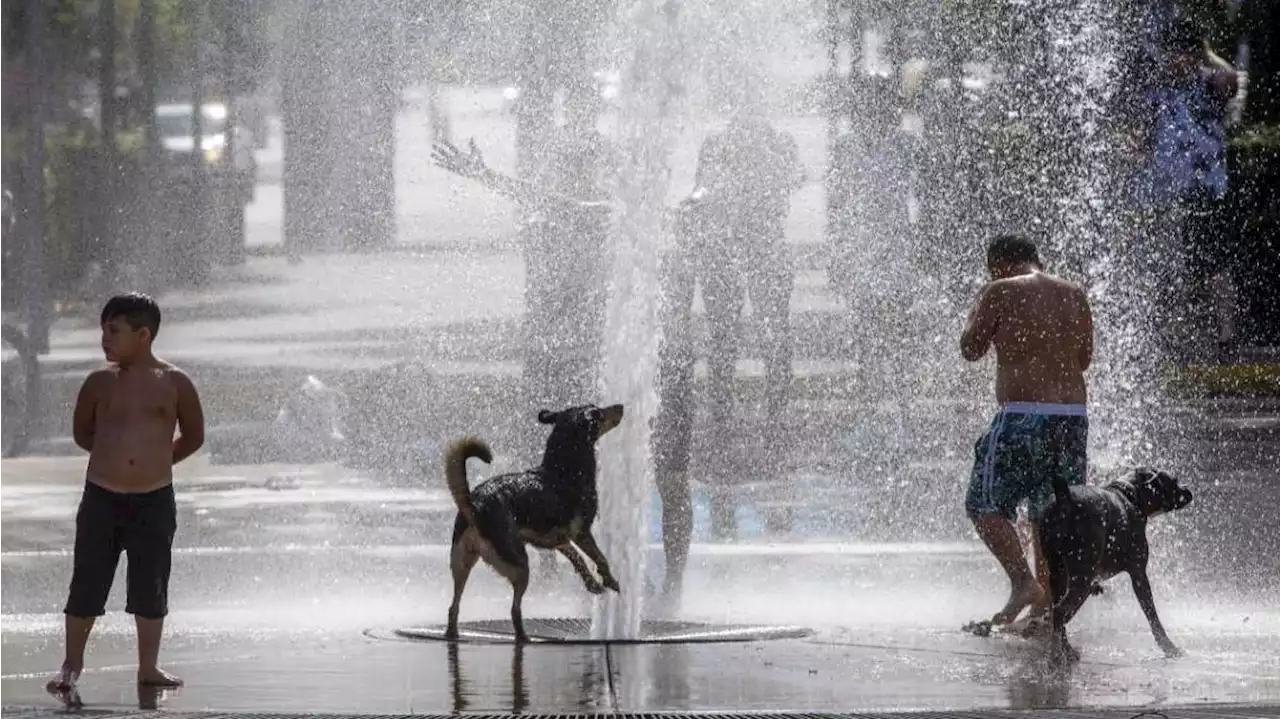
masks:
[[[444,624],[396,629],[410,640],[448,641]],[[579,618],[525,619],[525,633],[532,644],[710,644],[803,638],[813,633],[805,627],[769,624],[710,624],[645,619],[640,636],[626,640],[591,638],[591,620]],[[458,622],[457,641],[465,644],[512,644],[511,619]]]

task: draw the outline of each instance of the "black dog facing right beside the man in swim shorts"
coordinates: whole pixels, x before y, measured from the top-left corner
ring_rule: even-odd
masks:
[[[1147,521],[1192,503],[1192,493],[1158,470],[1138,468],[1132,477],[1101,486],[1053,482],[1053,502],[1041,519],[1041,544],[1048,563],[1052,606],[1051,651],[1075,661],[1079,652],[1066,640],[1066,624],[1100,582],[1121,572],[1167,656],[1180,650],[1165,633],[1147,580]]]

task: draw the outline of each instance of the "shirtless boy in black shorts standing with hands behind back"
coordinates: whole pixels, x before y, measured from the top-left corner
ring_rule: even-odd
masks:
[[[102,352],[76,399],[76,444],[90,453],[76,514],[76,551],[67,600],[67,656],[51,692],[73,692],[93,622],[105,613],[120,551],[128,555],[128,599],[138,631],[138,684],[177,687],[160,669],[169,612],[169,563],[177,528],[173,466],[205,440],[205,417],[191,379],[156,358],[160,308],[145,294],[102,307]],[[174,439],[174,427],[180,430]]]

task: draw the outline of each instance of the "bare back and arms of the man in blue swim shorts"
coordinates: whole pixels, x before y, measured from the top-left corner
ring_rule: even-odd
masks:
[[[1038,270],[988,284],[963,339],[965,357],[996,347],[996,399],[1084,404],[1093,317],[1084,290]]]

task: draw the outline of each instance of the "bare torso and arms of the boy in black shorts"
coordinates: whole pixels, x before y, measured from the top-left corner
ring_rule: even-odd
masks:
[[[90,452],[90,481],[116,493],[172,484],[173,466],[186,458],[174,430],[193,411],[198,400],[191,379],[161,360],[91,374],[74,420],[77,443]]]

